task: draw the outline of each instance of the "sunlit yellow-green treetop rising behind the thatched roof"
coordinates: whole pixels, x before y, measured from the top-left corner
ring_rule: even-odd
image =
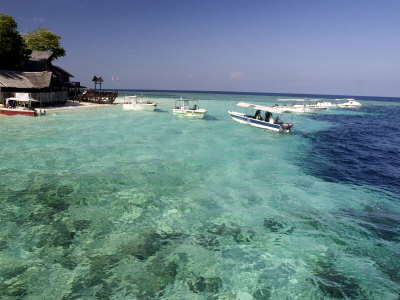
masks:
[[[23,35],[26,48],[31,51],[53,52],[53,58],[65,56],[64,48],[60,47],[61,37],[55,33],[40,27],[35,31],[30,31]]]

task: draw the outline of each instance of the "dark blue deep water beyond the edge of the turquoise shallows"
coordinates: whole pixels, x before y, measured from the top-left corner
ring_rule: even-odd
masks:
[[[362,114],[321,114],[335,126],[305,135],[306,169],[324,180],[366,184],[400,194],[400,106],[366,106]],[[316,163],[318,160],[318,163]]]

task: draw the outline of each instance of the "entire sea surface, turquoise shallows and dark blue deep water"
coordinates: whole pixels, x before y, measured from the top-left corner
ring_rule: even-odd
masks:
[[[279,95],[142,93],[0,118],[1,299],[399,299],[400,99],[280,134],[227,113]]]

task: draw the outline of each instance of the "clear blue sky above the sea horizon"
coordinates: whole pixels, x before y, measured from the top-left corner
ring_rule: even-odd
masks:
[[[53,64],[91,88],[96,75],[109,89],[400,97],[398,0],[0,0],[0,13],[60,35]]]

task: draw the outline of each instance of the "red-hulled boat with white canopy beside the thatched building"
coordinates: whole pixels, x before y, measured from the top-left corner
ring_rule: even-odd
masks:
[[[33,102],[39,102],[33,99],[29,93],[15,93],[15,97],[9,97],[5,101],[5,107],[0,107],[0,114],[7,116],[42,116],[46,114],[43,109],[32,107]]]

